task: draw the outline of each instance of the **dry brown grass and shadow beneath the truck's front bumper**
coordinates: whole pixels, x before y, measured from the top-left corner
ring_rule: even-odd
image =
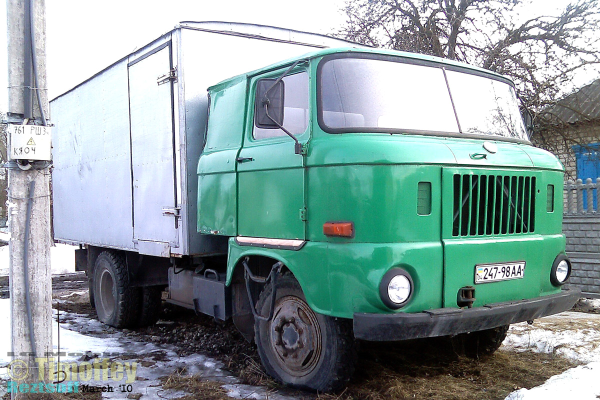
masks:
[[[428,345],[428,342],[430,345]],[[442,341],[366,344],[349,386],[323,400],[503,399],[531,388],[574,363],[538,353],[499,351],[487,359],[459,356]]]

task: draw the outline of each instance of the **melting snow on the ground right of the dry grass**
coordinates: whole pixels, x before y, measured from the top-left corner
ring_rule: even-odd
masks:
[[[532,389],[519,389],[505,400],[598,400],[600,398],[600,315],[562,312],[533,325],[514,324],[501,349],[536,351],[586,363],[551,377]]]

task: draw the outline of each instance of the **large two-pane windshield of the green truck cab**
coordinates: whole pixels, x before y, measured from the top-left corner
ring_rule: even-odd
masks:
[[[398,61],[334,58],[323,62],[322,127],[331,133],[419,131],[527,140],[517,97],[508,83],[438,65]]]

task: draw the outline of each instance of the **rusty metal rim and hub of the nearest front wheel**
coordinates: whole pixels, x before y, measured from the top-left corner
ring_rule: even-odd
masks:
[[[322,341],[313,310],[298,297],[286,296],[275,305],[271,320],[271,348],[289,374],[310,373],[320,357]]]

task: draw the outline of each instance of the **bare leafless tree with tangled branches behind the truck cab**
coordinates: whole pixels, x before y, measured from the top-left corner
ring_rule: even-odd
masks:
[[[523,0],[349,0],[343,9],[347,23],[338,35],[507,75],[536,125],[547,128],[556,120],[538,113],[573,89],[575,74],[600,64],[600,8],[598,0],[576,0],[559,15],[523,19],[523,5]]]

